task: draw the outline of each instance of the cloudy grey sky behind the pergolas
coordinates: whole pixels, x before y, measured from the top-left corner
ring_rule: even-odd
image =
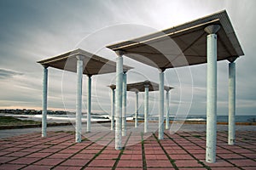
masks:
[[[256,115],[256,58],[253,49],[256,2],[245,1],[125,1],[125,0],[1,0],[0,109],[41,110],[43,67],[38,60],[82,48],[115,60],[106,48],[114,42],[141,37],[226,9],[244,56],[236,59],[236,114]],[[124,57],[134,67],[127,82],[158,82],[158,71]],[[207,65],[165,71],[172,86],[172,115],[206,115]],[[87,77],[83,82],[86,111]],[[115,74],[92,77],[92,112],[109,113]],[[49,110],[74,111],[76,74],[49,68]],[[127,112],[134,113],[135,94],[128,92]],[[143,113],[143,93],[139,94]],[[157,114],[158,93],[149,93],[149,114]],[[218,115],[228,114],[228,61],[218,62]]]

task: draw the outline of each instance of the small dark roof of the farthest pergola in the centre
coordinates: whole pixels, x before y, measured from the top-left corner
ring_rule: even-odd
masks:
[[[148,91],[158,91],[159,90],[159,84],[156,82],[150,82],[150,81],[144,81],[144,82],[135,82],[135,83],[130,83],[127,84],[127,91],[131,92],[144,92],[145,91],[145,85],[148,86]],[[115,85],[110,85],[110,88],[115,88]],[[165,86],[165,90],[169,91],[172,88]]]

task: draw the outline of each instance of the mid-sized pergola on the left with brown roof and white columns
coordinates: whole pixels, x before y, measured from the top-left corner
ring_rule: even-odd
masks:
[[[83,74],[88,77],[87,89],[87,128],[90,132],[90,111],[91,111],[91,77],[99,74],[115,72],[116,63],[104,59],[96,54],[90,54],[82,49],[75,49],[65,54],[38,61],[44,67],[43,79],[43,111],[42,111],[42,137],[46,137],[47,127],[47,84],[48,67],[53,67],[63,71],[77,72],[77,97],[76,97],[76,142],[81,142],[82,128],[82,82]],[[124,66],[123,71],[129,71],[132,67]]]

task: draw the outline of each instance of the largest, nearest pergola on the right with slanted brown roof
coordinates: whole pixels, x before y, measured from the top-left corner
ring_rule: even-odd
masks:
[[[216,161],[217,61],[229,60],[228,141],[229,144],[234,144],[236,123],[235,60],[244,54],[225,10],[148,36],[109,45],[108,48],[118,55],[116,115],[122,114],[121,84],[123,77],[120,73],[123,71],[123,55],[160,70],[160,119],[164,115],[164,71],[173,67],[207,63],[207,162]],[[159,129],[159,139],[163,139],[163,128]],[[115,148],[119,150],[121,138],[115,140]]]

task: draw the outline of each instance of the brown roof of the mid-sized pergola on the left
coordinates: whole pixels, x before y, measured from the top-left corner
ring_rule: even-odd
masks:
[[[55,57],[38,61],[41,65],[47,65],[56,69],[65,71],[77,71],[77,56],[84,57],[84,71],[85,75],[98,75],[111,73],[116,71],[116,63],[104,59],[96,54],[90,54],[82,49],[75,49],[65,54],[60,54]],[[124,65],[124,71],[132,69],[130,66]]]

